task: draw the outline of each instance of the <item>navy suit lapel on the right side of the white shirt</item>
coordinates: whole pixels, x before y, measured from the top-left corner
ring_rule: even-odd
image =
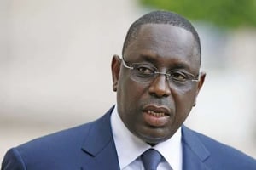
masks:
[[[209,170],[204,161],[210,156],[201,140],[188,127],[183,126],[183,170]]]

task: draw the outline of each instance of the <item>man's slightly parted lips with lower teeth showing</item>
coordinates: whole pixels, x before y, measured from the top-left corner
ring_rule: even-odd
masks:
[[[151,127],[165,126],[170,115],[171,111],[163,106],[147,105],[143,109],[143,119]]]

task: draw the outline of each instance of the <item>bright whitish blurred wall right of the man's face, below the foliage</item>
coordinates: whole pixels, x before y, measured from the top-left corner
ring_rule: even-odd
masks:
[[[207,77],[187,124],[256,158],[256,30],[196,26]]]

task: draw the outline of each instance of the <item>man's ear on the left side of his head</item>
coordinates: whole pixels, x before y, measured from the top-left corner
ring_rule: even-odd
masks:
[[[112,81],[113,81],[113,91],[117,91],[119,82],[119,72],[120,72],[121,59],[118,55],[113,55],[111,70],[112,70]]]

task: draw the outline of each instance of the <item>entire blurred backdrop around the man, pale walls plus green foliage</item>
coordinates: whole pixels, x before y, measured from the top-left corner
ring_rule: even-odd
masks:
[[[1,0],[0,160],[115,103],[110,63],[131,22],[183,14],[201,37],[205,86],[186,125],[256,158],[256,0]]]

